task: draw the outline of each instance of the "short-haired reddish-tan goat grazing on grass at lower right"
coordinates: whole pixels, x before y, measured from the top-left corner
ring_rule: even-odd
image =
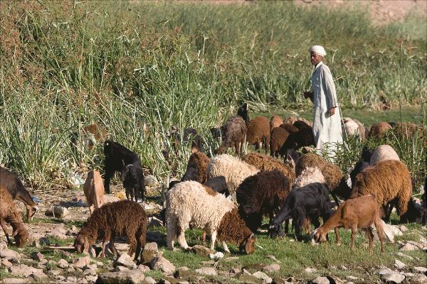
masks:
[[[320,228],[315,229],[313,232],[316,241],[327,241],[327,233],[334,228],[337,235],[337,245],[341,243],[339,238],[338,228],[352,229],[352,245],[354,250],[356,242],[356,234],[358,228],[367,229],[367,236],[369,238],[369,252],[372,251],[374,234],[372,234],[372,223],[375,224],[376,231],[378,231],[379,241],[381,242],[381,253],[384,253],[384,230],[379,216],[379,207],[376,200],[371,195],[365,195],[354,199],[347,200],[339,205],[337,211],[327,219],[325,224]]]

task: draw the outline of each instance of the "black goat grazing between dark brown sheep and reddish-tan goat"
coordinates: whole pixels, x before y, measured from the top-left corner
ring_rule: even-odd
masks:
[[[313,182],[298,190],[292,190],[286,197],[285,204],[280,208],[269,226],[269,234],[272,238],[283,236],[282,223],[292,218],[295,226],[297,240],[302,240],[302,224],[309,217],[312,224],[320,226],[319,217],[325,222],[332,214],[329,191],[320,182]]]

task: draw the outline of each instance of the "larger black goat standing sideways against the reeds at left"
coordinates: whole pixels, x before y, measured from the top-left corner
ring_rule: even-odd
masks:
[[[135,165],[142,168],[139,157],[122,144],[107,140],[104,142],[105,192],[110,193],[110,180],[115,172],[122,173],[125,165]]]

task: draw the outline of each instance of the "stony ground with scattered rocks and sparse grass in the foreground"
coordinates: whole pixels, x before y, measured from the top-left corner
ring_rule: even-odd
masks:
[[[154,191],[158,197],[159,188]],[[105,202],[123,197],[121,187],[112,187],[112,192],[112,195],[105,196]],[[286,262],[289,259],[276,258],[274,250],[269,251],[270,254],[265,259],[261,257],[258,262],[248,265],[239,264],[239,258],[247,256],[238,253],[224,256],[221,252],[214,253],[201,245],[194,246],[189,253],[183,253],[181,249],[168,251],[165,248],[165,229],[159,219],[162,205],[154,197],[149,197],[150,201],[142,204],[149,215],[149,232],[141,263],[135,263],[127,255],[126,239],[120,239],[116,243],[117,249],[122,253],[117,260],[109,249],[106,258],[97,258],[100,244],[90,251],[89,256],[75,253],[72,248],[73,239],[89,217],[83,192],[37,197],[43,203],[33,222],[25,224],[30,232],[25,248],[8,247],[4,234],[0,235],[2,283],[427,283],[426,253],[421,253],[427,252],[426,226],[421,227],[423,236],[419,236],[417,241],[395,241],[399,250],[394,253],[396,260],[389,267],[380,264],[364,275],[365,268],[347,268],[347,263],[328,266],[328,273],[322,267],[307,266],[302,272],[304,277],[294,277],[283,273],[283,268],[288,267]],[[56,207],[52,207],[53,205]],[[52,216],[53,213],[55,217]],[[389,239],[405,234],[408,230],[402,225],[386,226]],[[292,244],[292,241],[290,239],[288,244]],[[417,256],[411,256],[413,251],[420,251],[421,255],[418,253]],[[192,263],[191,268],[186,267],[185,258],[194,257],[200,261]],[[343,271],[347,271],[345,275]]]

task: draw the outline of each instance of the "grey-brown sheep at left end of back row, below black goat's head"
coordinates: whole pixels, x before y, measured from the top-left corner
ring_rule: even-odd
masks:
[[[215,150],[215,154],[224,153],[228,147],[234,146],[237,155],[242,155],[242,145],[246,137],[246,124],[241,116],[231,116],[225,126],[221,146]]]

